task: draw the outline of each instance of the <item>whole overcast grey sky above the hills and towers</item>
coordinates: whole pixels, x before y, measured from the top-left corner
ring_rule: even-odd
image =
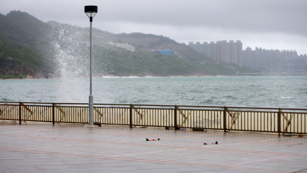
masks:
[[[307,0],[1,0],[0,13],[89,27],[84,6],[98,6],[93,27],[152,33],[179,43],[241,40],[263,49],[307,53]]]

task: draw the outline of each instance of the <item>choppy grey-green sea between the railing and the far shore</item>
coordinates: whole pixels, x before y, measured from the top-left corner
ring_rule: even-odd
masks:
[[[307,76],[93,78],[94,103],[307,108]],[[88,103],[89,79],[0,80],[0,100]]]

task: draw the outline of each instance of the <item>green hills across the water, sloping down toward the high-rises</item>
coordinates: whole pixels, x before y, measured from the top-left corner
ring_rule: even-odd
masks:
[[[89,48],[76,46],[77,42],[89,40],[88,32],[88,28],[42,22],[26,12],[0,14],[0,79],[59,77],[59,54],[63,51],[78,57],[67,62],[78,63],[71,65],[72,70],[88,66]],[[93,33],[93,66],[97,77],[209,76],[249,71],[235,64],[218,64],[187,45],[161,35],[114,34],[96,28]],[[135,51],[111,46],[109,42],[128,43],[135,46]],[[175,54],[155,53],[157,49],[171,49]],[[86,68],[78,73],[80,76],[87,74]]]

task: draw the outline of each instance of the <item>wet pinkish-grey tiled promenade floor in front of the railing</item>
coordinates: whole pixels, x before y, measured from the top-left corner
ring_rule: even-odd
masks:
[[[307,172],[307,136],[6,122],[0,136],[0,173]]]

